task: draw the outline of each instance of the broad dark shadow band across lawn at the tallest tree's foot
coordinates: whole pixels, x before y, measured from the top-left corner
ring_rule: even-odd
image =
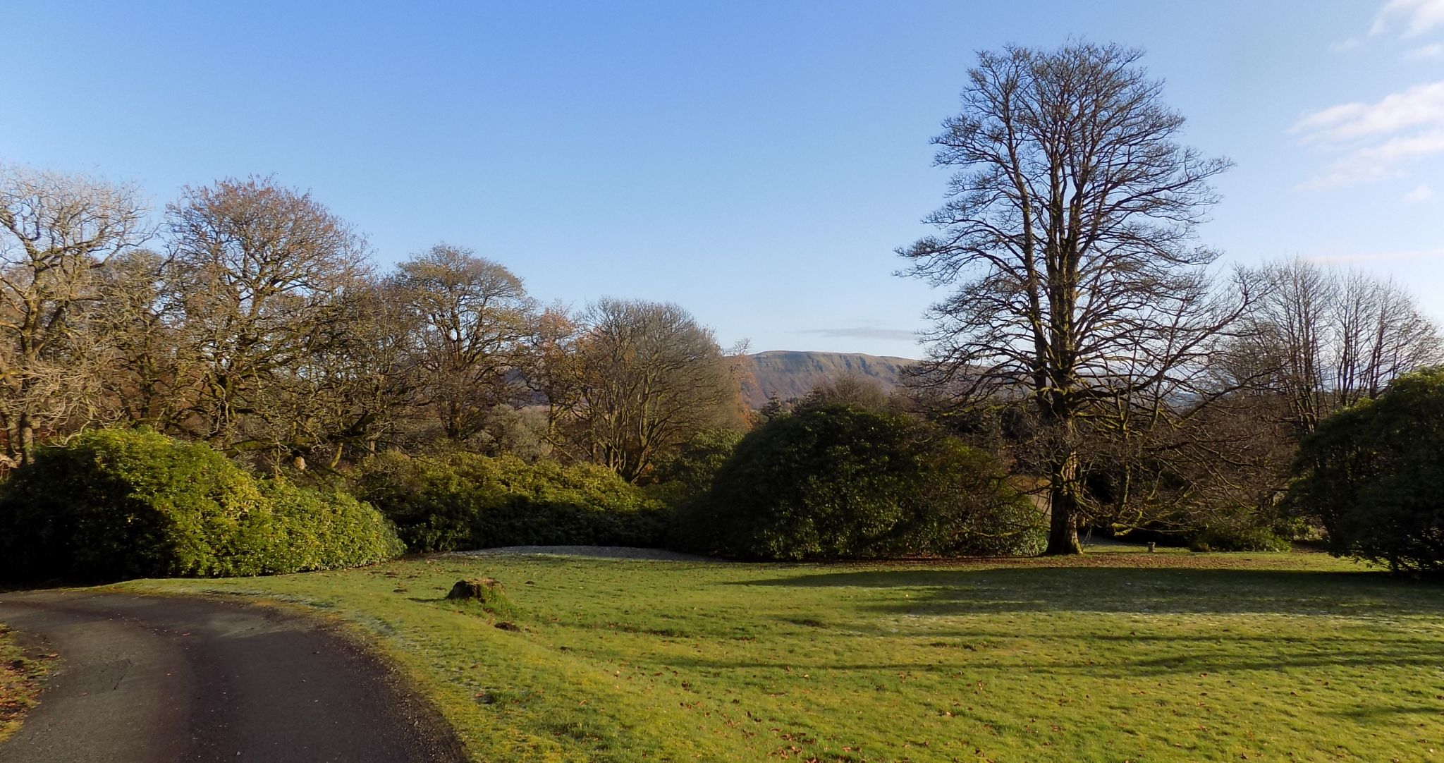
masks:
[[[823,572],[736,585],[905,590],[861,604],[897,616],[1077,611],[1134,614],[1444,616],[1444,587],[1380,572],[1145,569],[882,569]]]

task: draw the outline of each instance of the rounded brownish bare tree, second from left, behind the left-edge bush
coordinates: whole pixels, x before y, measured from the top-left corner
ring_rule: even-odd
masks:
[[[365,286],[365,241],[309,194],[270,178],[186,188],[168,208],[170,289],[198,393],[183,428],[238,451],[302,455],[321,445],[309,363]]]

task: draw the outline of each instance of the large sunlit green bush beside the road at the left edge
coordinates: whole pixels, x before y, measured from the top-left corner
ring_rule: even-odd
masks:
[[[0,575],[114,579],[299,572],[403,551],[349,496],[258,481],[208,445],[149,429],[42,448],[0,486]]]

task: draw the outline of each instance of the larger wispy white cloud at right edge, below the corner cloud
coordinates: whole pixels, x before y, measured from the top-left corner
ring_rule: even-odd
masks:
[[[1340,188],[1396,178],[1404,166],[1444,155],[1444,81],[1414,85],[1375,103],[1305,114],[1289,127],[1300,142],[1337,155],[1305,188]]]

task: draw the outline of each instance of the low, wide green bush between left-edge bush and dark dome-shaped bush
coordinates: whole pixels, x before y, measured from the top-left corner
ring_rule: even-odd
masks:
[[[589,464],[387,452],[361,464],[354,490],[412,551],[656,546],[667,526],[660,501]]]

